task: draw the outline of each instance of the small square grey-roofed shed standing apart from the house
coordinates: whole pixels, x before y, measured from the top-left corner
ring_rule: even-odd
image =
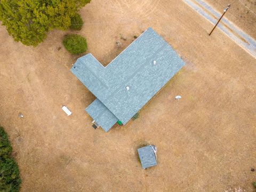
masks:
[[[151,166],[155,166],[156,162],[156,146],[148,145],[138,149],[141,166],[146,169]]]

